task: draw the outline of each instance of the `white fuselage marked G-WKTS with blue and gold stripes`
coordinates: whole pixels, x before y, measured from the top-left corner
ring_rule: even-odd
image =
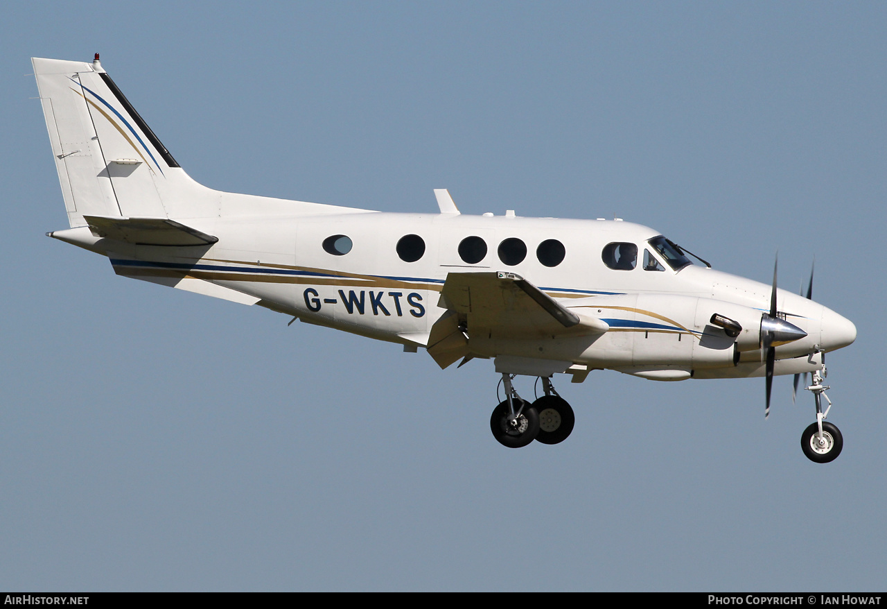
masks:
[[[322,207],[322,206],[318,206]],[[659,380],[687,376],[759,376],[761,312],[769,309],[771,287],[701,265],[675,271],[648,245],[659,233],[623,221],[399,214],[354,210],[274,218],[183,218],[184,224],[218,241],[208,248],[130,246],[107,252],[118,273],[163,273],[211,281],[259,299],[259,304],[301,320],[403,344],[428,344],[443,313],[438,306],[448,273],[517,273],[571,311],[608,323],[603,335],[508,336],[467,328],[475,357],[567,361],[586,368],[613,368]],[[324,241],[345,235],[344,255]],[[404,235],[419,235],[425,250],[414,262],[396,251]],[[476,264],[459,256],[459,243],[480,237],[486,255]],[[498,246],[516,238],[526,256],[506,265]],[[557,240],[560,264],[543,265],[537,248]],[[602,251],[614,242],[633,243],[631,270],[605,264]],[[655,257],[649,268],[643,256]],[[655,265],[655,270],[653,270]],[[180,276],[180,275],[179,275]],[[777,349],[776,374],[821,367],[818,350],[852,343],[852,323],[804,297],[779,291],[779,311],[807,336]],[[742,335],[726,336],[710,324],[713,313],[742,324]]]

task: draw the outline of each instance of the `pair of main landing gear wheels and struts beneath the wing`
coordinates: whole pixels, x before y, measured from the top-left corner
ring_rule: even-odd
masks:
[[[525,447],[534,439],[542,444],[559,444],[567,439],[576,417],[566,399],[554,391],[550,377],[542,378],[546,394],[530,404],[514,390],[514,375],[502,374],[506,399],[490,417],[490,430],[499,444]]]

